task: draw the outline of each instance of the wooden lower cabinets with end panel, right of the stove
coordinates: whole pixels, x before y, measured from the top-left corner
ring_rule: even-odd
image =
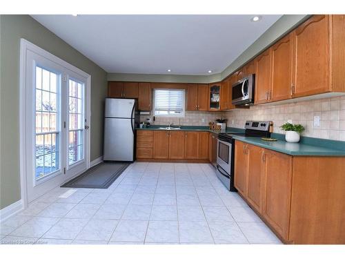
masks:
[[[345,244],[344,164],[235,141],[235,187],[288,244]]]

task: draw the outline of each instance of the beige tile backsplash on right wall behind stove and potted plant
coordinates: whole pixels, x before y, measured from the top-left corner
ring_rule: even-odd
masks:
[[[275,133],[284,133],[279,126],[291,119],[302,124],[306,137],[320,137],[345,141],[345,97],[332,97],[291,104],[266,104],[236,109],[225,113],[227,126],[244,128],[246,120],[272,120]],[[314,116],[319,116],[320,126],[314,126]]]

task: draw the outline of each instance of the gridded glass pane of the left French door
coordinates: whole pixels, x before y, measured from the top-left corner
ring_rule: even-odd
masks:
[[[59,75],[36,66],[35,180],[59,171]]]

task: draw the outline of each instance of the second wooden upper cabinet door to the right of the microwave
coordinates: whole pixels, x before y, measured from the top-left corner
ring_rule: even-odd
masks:
[[[290,99],[293,76],[292,34],[272,46],[271,101]]]

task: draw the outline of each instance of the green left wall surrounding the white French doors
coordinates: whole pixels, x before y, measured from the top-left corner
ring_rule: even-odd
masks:
[[[19,49],[24,38],[91,75],[91,160],[103,154],[107,74],[28,15],[1,15],[0,209],[21,198],[19,175]]]

